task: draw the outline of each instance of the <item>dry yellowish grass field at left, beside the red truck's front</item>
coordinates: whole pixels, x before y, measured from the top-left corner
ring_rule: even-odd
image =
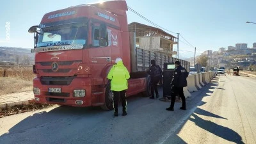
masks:
[[[34,77],[31,67],[0,68],[0,95],[33,90]]]

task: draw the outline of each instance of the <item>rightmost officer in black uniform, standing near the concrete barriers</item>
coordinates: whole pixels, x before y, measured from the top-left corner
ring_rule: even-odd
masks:
[[[186,99],[183,93],[183,87],[187,86],[187,77],[188,77],[188,71],[181,67],[180,61],[175,61],[175,69],[172,79],[172,100],[171,100],[171,106],[170,108],[166,108],[168,111],[173,111],[174,109],[174,103],[177,95],[180,95],[182,99],[182,107],[180,109],[186,110]]]

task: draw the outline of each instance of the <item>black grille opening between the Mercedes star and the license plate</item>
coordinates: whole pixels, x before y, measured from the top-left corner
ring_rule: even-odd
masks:
[[[67,86],[75,77],[41,77],[40,81],[44,85],[63,85]]]

